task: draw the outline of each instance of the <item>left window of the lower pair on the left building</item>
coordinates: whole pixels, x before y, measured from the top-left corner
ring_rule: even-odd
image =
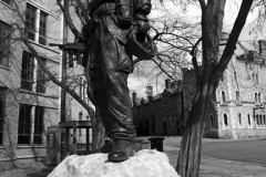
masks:
[[[19,114],[18,144],[30,144],[31,137],[31,106],[21,104]]]

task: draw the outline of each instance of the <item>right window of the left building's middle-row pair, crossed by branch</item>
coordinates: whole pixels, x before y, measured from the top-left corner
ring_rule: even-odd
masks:
[[[45,65],[47,60],[42,58],[42,63]],[[45,81],[47,81],[47,74],[40,66],[38,65],[37,70],[37,92],[38,93],[45,93]]]

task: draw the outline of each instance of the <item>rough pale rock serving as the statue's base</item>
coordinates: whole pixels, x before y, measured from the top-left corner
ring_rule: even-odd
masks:
[[[66,157],[48,177],[180,177],[166,154],[143,149],[123,163],[108,162],[108,154]]]

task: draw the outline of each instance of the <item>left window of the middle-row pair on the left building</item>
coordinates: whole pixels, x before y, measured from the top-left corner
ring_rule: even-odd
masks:
[[[21,70],[21,88],[32,91],[32,84],[33,84],[33,56],[31,53],[23,51]]]

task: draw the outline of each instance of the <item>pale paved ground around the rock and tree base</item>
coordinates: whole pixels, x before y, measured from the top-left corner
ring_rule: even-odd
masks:
[[[231,142],[228,139],[207,139],[209,142]],[[165,137],[164,152],[170,158],[171,165],[176,166],[181,137]],[[41,167],[20,168],[0,173],[0,177],[24,177],[27,173],[37,171]],[[246,164],[239,162],[202,157],[200,177],[266,177],[266,167],[256,164]]]

